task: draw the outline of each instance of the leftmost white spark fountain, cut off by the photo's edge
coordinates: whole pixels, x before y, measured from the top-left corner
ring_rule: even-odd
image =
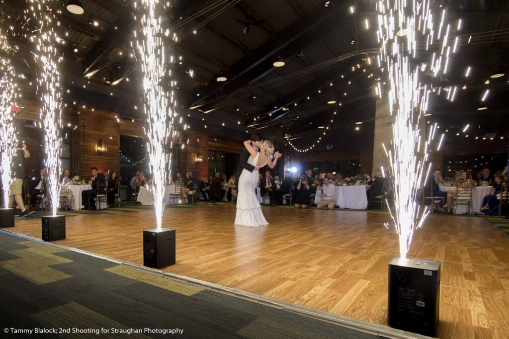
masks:
[[[11,106],[16,99],[16,74],[11,65],[8,53],[13,51],[9,46],[7,34],[0,31],[0,179],[4,188],[4,203],[7,208],[11,192],[11,164],[16,152],[14,114]],[[17,143],[16,143],[17,144]]]

